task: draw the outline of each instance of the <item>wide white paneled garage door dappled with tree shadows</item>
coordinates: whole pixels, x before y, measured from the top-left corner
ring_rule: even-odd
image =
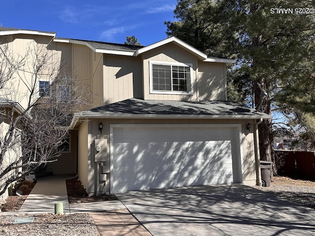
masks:
[[[234,130],[113,127],[111,192],[236,182]]]

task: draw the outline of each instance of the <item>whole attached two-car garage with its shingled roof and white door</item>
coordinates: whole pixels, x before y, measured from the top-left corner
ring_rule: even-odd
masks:
[[[90,195],[259,184],[256,140],[263,118],[269,116],[231,101],[136,98],[76,113],[71,127],[79,129],[83,147],[78,175]]]

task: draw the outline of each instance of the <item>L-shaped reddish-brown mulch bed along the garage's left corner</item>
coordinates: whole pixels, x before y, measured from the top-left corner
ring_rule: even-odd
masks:
[[[118,200],[114,194],[100,194],[98,196],[89,197],[81,181],[77,178],[67,179],[65,182],[67,186],[68,201],[70,204]]]

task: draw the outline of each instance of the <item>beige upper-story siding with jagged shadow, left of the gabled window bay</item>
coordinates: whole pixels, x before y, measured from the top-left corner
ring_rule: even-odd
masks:
[[[104,104],[123,101],[133,97],[134,81],[140,82],[141,64],[139,58],[105,55],[103,68]],[[136,96],[140,96],[141,84],[136,84]]]

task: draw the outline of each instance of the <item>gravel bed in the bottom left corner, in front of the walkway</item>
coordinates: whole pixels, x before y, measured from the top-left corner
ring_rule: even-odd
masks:
[[[89,214],[40,214],[31,224],[13,224],[17,217],[0,216],[0,236],[99,236]]]

